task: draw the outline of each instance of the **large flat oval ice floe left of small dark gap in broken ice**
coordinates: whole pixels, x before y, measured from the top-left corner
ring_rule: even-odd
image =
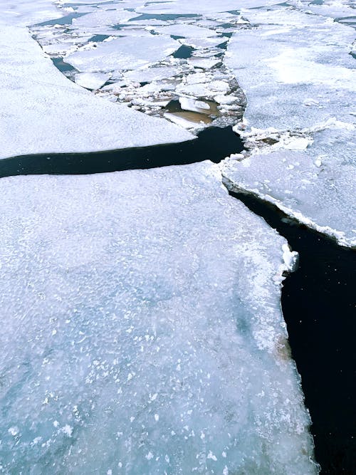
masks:
[[[179,43],[167,36],[150,36],[145,41],[124,37],[100,43],[95,50],[76,51],[66,56],[66,62],[82,72],[127,71],[161,61],[178,48]]]

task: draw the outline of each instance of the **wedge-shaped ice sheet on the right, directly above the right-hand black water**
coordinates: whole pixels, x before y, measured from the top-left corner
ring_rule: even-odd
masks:
[[[310,136],[310,145],[305,137],[290,137],[284,146],[276,142],[247,158],[226,160],[226,184],[276,204],[342,246],[355,247],[355,127],[330,121]]]

